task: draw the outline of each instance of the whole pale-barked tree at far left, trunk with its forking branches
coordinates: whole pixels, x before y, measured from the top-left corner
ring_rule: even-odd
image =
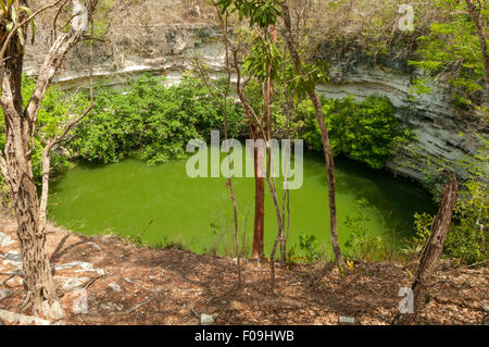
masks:
[[[27,2],[21,1],[20,4],[27,5]],[[96,1],[90,2],[90,15],[95,5]],[[53,4],[46,5],[43,9],[51,7]],[[42,9],[36,13],[40,13],[40,11]],[[25,12],[22,12],[21,22],[25,20]],[[75,13],[73,21],[76,21],[78,15],[80,14]],[[16,29],[18,27],[14,26],[9,36],[3,36],[1,40],[0,82],[2,92],[0,103],[5,120],[5,157],[2,158],[0,151],[0,166],[2,166],[0,169],[2,174],[5,175],[17,221],[17,237],[22,255],[24,287],[26,289],[23,310],[32,306],[34,313],[39,314],[43,307],[43,301],[47,300],[49,306],[51,306],[57,299],[57,294],[46,249],[46,209],[39,205],[37,188],[34,183],[30,158],[33,152],[32,146],[34,146],[33,137],[35,135],[39,106],[46,95],[49,83],[60,69],[66,53],[78,41],[86,28],[72,28],[55,39],[39,69],[34,92],[25,109],[23,108],[22,99],[24,47],[15,32]],[[23,27],[23,30],[26,33],[26,27]],[[3,59],[4,57],[7,58]],[[91,110],[91,107],[89,110]],[[86,114],[84,113],[84,115]],[[71,122],[65,132],[47,147],[52,148],[83,116]],[[49,150],[45,154],[49,159]],[[47,175],[49,173],[49,161],[43,166],[43,175]],[[43,195],[47,195],[47,186],[42,190]],[[46,202],[47,196],[41,200]],[[50,312],[46,313],[49,314]]]

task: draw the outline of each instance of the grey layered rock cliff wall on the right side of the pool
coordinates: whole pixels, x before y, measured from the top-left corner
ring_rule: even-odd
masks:
[[[331,65],[330,73],[333,84],[318,86],[319,92],[329,98],[387,96],[397,108],[400,122],[415,129],[416,142],[386,163],[396,173],[422,179],[426,170],[435,169],[440,161],[455,164],[465,156],[475,154],[478,134],[487,137],[489,133],[479,120],[455,109],[450,95],[440,86],[432,86],[430,95],[410,101],[412,75],[400,70],[369,64],[346,69],[337,63]]]

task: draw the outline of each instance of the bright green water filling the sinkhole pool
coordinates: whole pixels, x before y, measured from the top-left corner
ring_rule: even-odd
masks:
[[[314,234],[329,245],[327,182],[322,156],[304,154],[304,181],[290,190],[289,246],[299,235]],[[416,184],[390,173],[369,170],[347,158],[336,160],[338,232],[340,244],[350,231],[347,215],[359,215],[355,202],[366,198],[386,218],[369,210],[372,233],[399,241],[413,228],[413,213],[430,211],[429,196]],[[278,181],[281,186],[281,181]],[[250,249],[253,230],[253,178],[234,178],[239,230]],[[266,188],[265,248],[277,234],[273,201]],[[152,245],[181,243],[195,252],[233,251],[233,210],[225,178],[189,178],[186,160],[149,166],[137,159],[116,164],[78,164],[51,184],[50,218],[83,234],[114,232],[140,235]],[[281,194],[279,194],[281,197]]]

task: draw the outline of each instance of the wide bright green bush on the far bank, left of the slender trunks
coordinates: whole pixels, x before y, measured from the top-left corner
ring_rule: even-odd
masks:
[[[140,150],[148,164],[164,163],[183,158],[190,139],[208,139],[212,129],[224,126],[221,100],[189,76],[165,87],[143,75],[124,92],[98,88],[96,95],[95,111],[80,122],[71,144],[91,162],[113,163]],[[240,126],[235,104],[228,104],[228,117],[235,134]]]

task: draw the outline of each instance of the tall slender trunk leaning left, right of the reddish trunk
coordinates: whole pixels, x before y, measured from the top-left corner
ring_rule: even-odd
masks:
[[[298,71],[298,73],[302,74],[302,76],[308,77],[306,73],[302,66],[301,59],[299,57],[299,52],[297,50],[296,40],[292,36],[291,22],[290,22],[290,11],[286,1],[280,2],[281,15],[284,20],[285,27],[285,40],[287,42],[287,47],[289,48],[290,57],[292,59],[292,63]],[[331,237],[331,247],[335,253],[336,265],[342,273],[346,268],[344,261],[341,257],[341,249],[338,243],[338,227],[337,227],[337,218],[336,218],[336,196],[335,196],[335,161],[333,159],[331,146],[329,144],[328,129],[326,127],[326,123],[324,121],[323,109],[321,104],[319,97],[315,90],[309,92],[309,98],[311,99],[314,111],[316,115],[316,121],[321,129],[321,138],[323,140],[323,149],[324,157],[326,160],[326,174],[328,176],[328,200],[329,200],[329,221],[330,221],[330,237]]]

